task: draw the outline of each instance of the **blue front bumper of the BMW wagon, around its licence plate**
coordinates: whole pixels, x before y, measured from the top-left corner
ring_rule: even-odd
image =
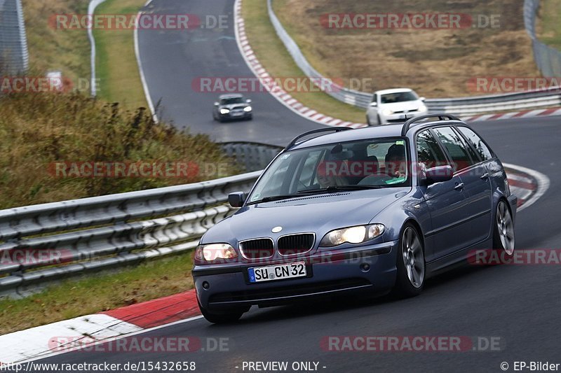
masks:
[[[236,262],[195,266],[193,277],[201,306],[209,310],[287,304],[309,297],[369,291],[374,294],[396,282],[398,241],[360,246],[344,251],[317,251],[286,262],[306,262],[308,276],[250,283],[248,269],[280,262]],[[365,267],[369,267],[367,270]],[[203,287],[203,283],[206,283]]]

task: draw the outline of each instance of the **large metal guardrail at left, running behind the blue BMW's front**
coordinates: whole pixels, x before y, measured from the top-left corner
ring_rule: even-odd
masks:
[[[259,174],[1,210],[0,296],[194,248]]]

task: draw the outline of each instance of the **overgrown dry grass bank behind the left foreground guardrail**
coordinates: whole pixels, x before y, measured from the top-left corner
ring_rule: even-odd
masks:
[[[156,125],[143,108],[126,111],[81,94],[0,97],[0,209],[158,188],[225,175],[188,178],[55,177],[51,162],[195,162],[231,164],[203,134]]]

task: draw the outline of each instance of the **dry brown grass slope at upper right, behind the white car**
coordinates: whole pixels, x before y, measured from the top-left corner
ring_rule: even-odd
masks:
[[[281,22],[324,76],[372,78],[366,91],[407,86],[426,97],[471,92],[477,76],[539,76],[519,0],[274,0]],[[500,14],[498,29],[326,29],[325,13]],[[483,94],[485,92],[480,92]]]

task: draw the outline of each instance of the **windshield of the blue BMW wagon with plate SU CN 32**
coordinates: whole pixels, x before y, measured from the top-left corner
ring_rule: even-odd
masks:
[[[410,186],[405,139],[371,139],[293,150],[280,155],[248,197],[273,197]]]

